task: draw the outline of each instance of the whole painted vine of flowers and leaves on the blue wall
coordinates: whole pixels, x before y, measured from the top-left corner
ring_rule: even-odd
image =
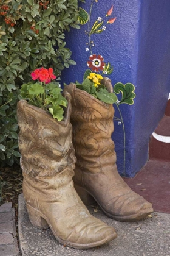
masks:
[[[98,73],[98,74],[105,74],[106,76],[109,76],[112,74],[114,71],[114,67],[110,62],[106,62],[104,60],[104,57],[101,55],[101,52],[97,53],[97,49],[95,49],[95,53],[93,52],[93,49],[95,47],[94,40],[97,35],[100,35],[101,33],[104,33],[109,29],[109,26],[113,26],[115,21],[117,20],[117,17],[113,15],[114,13],[114,5],[110,7],[109,10],[106,10],[106,15],[104,17],[101,17],[96,13],[96,9],[94,6],[98,4],[98,0],[92,0],[90,4],[90,10],[89,13],[86,12],[83,8],[80,8],[79,10],[79,21],[80,24],[84,25],[87,23],[87,30],[85,30],[85,34],[87,36],[87,41],[86,41],[86,52],[90,56],[88,56],[87,60],[87,66],[89,69],[86,70],[85,73]],[[94,10],[94,9],[95,10]],[[94,12],[93,12],[94,10]],[[96,15],[96,20],[92,21],[92,15],[93,18]],[[113,16],[112,16],[113,15]],[[93,37],[93,38],[92,38]],[[119,99],[117,102],[115,102],[115,105],[118,109],[118,113],[120,117],[114,116],[114,121],[117,122],[118,126],[121,126],[123,129],[123,148],[124,148],[124,154],[123,154],[123,166],[124,166],[124,171],[123,175],[126,174],[126,134],[125,134],[125,128],[124,128],[124,122],[123,122],[123,116],[121,114],[120,110],[120,105],[121,104],[128,104],[132,105],[134,104],[134,98],[135,98],[135,87],[131,83],[127,84],[122,84],[121,82],[118,82],[117,84],[114,85],[114,93],[120,94]]]

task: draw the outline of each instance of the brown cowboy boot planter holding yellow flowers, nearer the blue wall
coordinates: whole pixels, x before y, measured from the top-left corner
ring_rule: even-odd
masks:
[[[104,78],[112,92],[110,79]],[[94,98],[75,84],[64,88],[72,96],[71,123],[75,164],[75,189],[85,205],[95,201],[110,218],[138,221],[153,212],[152,204],[131,190],[118,174],[114,142],[112,104]]]

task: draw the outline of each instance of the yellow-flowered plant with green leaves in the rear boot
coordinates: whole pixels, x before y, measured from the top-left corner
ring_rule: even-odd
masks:
[[[76,82],[75,84],[77,85],[77,88],[87,91],[87,93],[100,99],[100,101],[110,104],[117,101],[115,93],[108,91],[103,84],[103,76],[101,76],[101,74],[92,73],[90,70],[87,70],[84,73],[82,84],[79,82]]]

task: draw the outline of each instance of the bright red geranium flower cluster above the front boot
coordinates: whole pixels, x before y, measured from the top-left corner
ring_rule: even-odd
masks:
[[[49,68],[39,68],[39,69],[35,69],[35,71],[33,71],[31,73],[32,79],[36,80],[38,79],[41,82],[45,82],[46,84],[48,84],[49,82],[51,82],[51,80],[56,79],[56,76],[53,74],[53,69]]]

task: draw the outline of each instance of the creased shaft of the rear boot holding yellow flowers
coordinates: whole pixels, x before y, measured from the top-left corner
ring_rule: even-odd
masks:
[[[104,80],[112,91],[110,80]],[[64,88],[72,96],[71,123],[73,126],[73,146],[77,166],[83,171],[96,173],[116,162],[114,142],[114,107],[112,104],[94,98],[75,84]]]

